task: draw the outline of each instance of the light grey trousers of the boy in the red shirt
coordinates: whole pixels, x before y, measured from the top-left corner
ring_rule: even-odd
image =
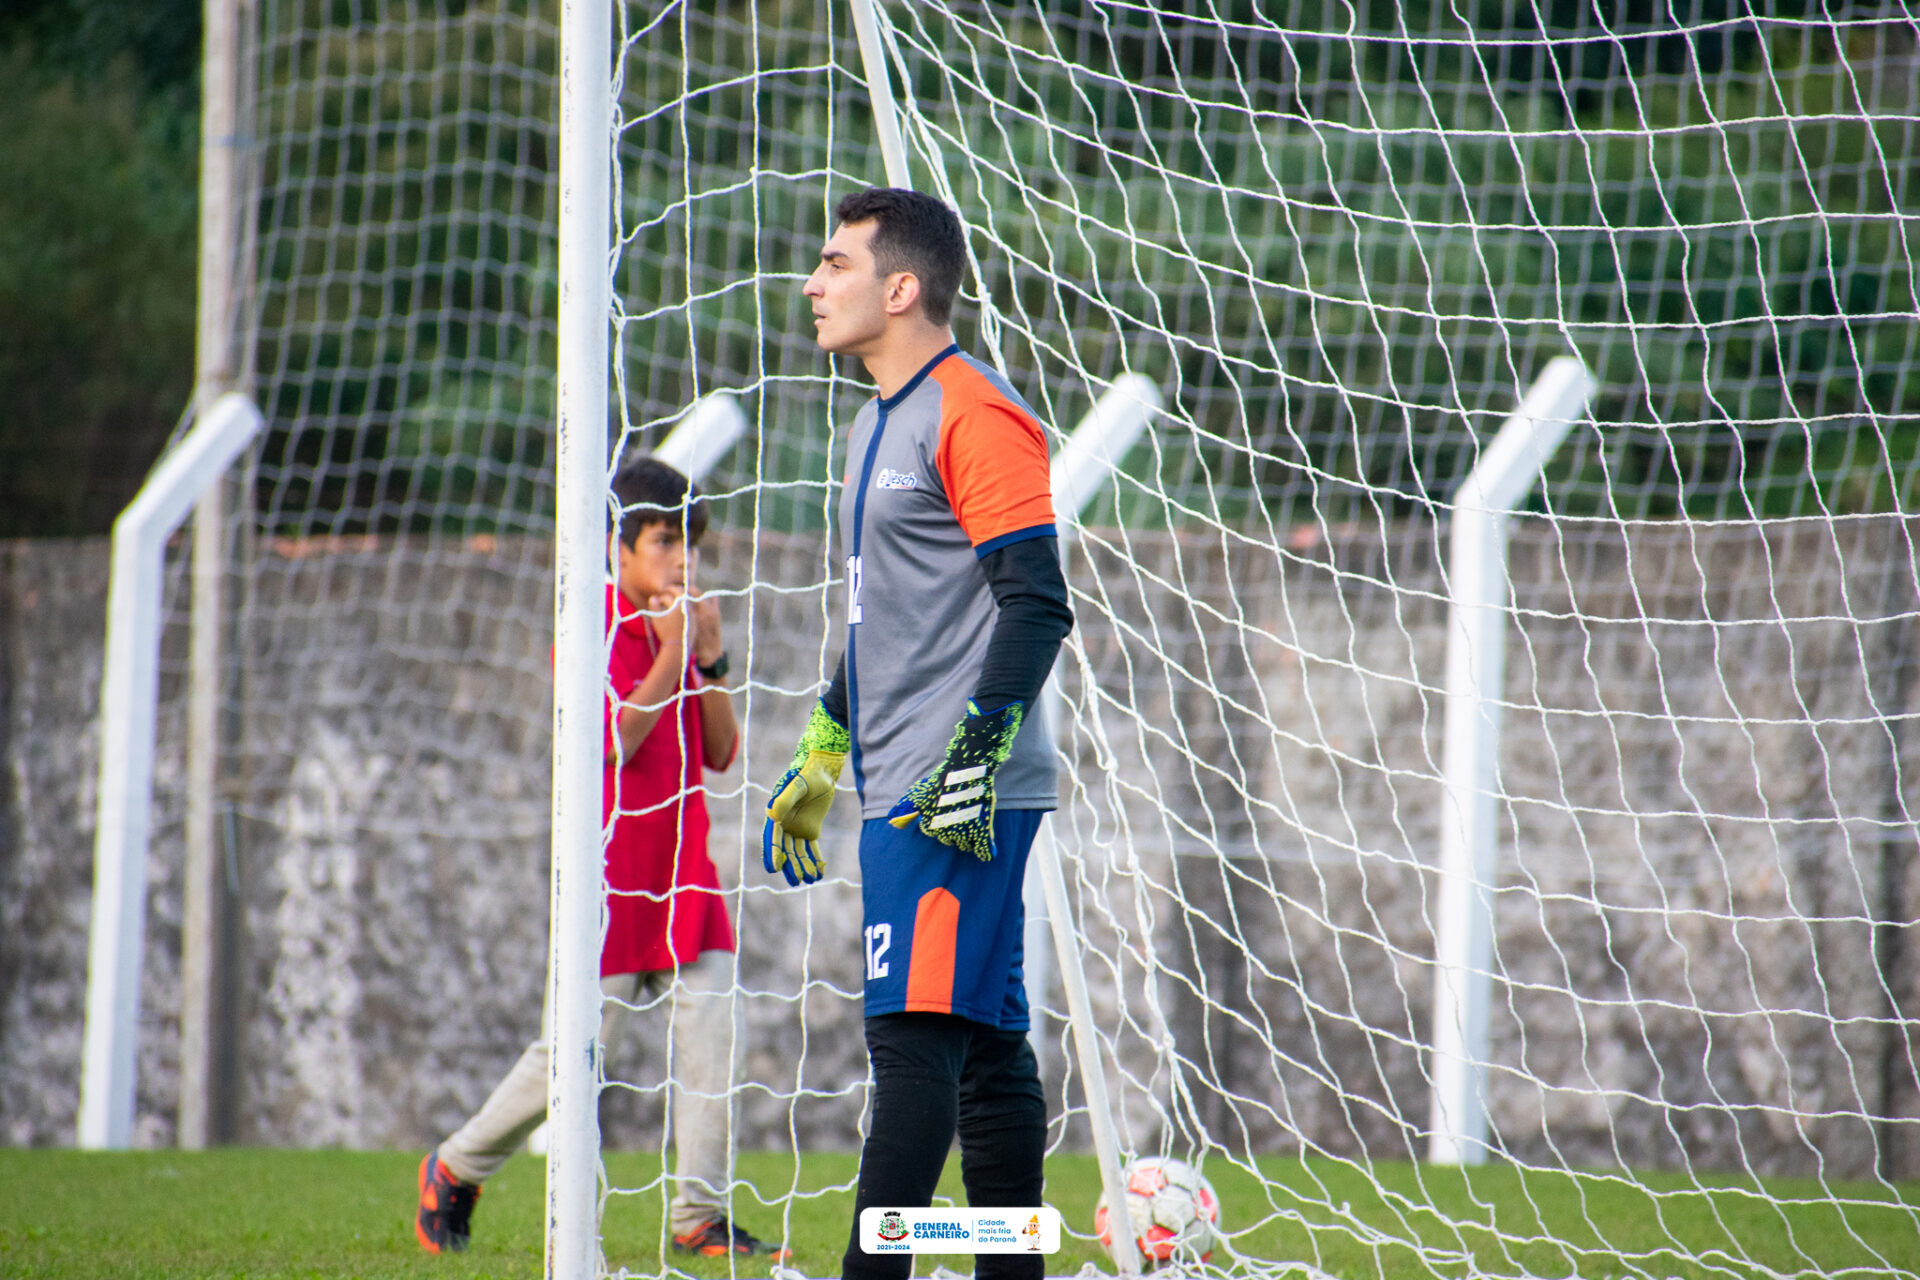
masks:
[[[659,1013],[668,1019],[666,1067],[674,1100],[674,1234],[726,1213],[726,1192],[733,1182],[730,1086],[739,1079],[745,1027],[732,986],[732,952],[701,952],[699,960],[678,971],[651,969],[601,979],[607,994],[601,1006],[601,1044],[612,1044],[634,1006],[672,996]],[[440,1144],[440,1163],[461,1182],[486,1182],[543,1119],[545,1036],[526,1046],[486,1105]]]

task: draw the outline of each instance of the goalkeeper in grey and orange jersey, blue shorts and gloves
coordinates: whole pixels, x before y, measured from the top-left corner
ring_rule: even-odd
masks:
[[[973,1207],[1043,1199],[1046,1100],[1027,1044],[1020,898],[1054,808],[1037,695],[1073,626],[1046,434],[954,345],[966,267],[952,209],[874,188],[841,200],[806,280],[816,340],[877,384],[849,434],[837,530],[847,649],[768,806],[766,869],[824,873],[820,819],[845,766],[860,796],[866,1042],[874,1094],[843,1276],[900,1280],[860,1211],[929,1205],[947,1150]],[[1037,1278],[1041,1255],[981,1255]]]

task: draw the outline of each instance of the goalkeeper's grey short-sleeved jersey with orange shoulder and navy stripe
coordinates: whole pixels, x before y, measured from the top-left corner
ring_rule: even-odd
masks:
[[[852,420],[839,539],[847,710],[860,812],[881,818],[947,754],[998,612],[979,558],[1054,537],[1046,432],[987,365],[947,347]],[[1054,733],[1029,708],[995,775],[1000,808],[1056,806]]]

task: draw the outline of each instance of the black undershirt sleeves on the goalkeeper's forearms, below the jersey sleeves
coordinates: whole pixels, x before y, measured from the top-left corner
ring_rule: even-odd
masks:
[[[989,551],[979,566],[998,616],[987,637],[973,700],[987,712],[1016,700],[1031,706],[1054,670],[1060,641],[1073,629],[1068,580],[1060,572],[1060,539],[1027,537]],[[849,723],[845,652],[820,702],[829,716]]]

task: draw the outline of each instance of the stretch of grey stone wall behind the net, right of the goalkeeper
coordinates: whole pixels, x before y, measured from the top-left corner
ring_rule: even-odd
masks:
[[[1920,1171],[1907,530],[1523,522],[1511,564],[1496,1146]],[[1092,950],[1125,958],[1131,1009],[1158,1004],[1121,1054],[1131,1115],[1425,1155],[1432,532],[1302,530],[1279,562],[1129,535],[1092,570],[1110,622],[1081,614],[1098,697],[1069,674],[1089,791],[1062,825],[1091,854]],[[1876,921],[1899,921],[1880,958]],[[1179,1105],[1140,1105],[1173,1075]]]

